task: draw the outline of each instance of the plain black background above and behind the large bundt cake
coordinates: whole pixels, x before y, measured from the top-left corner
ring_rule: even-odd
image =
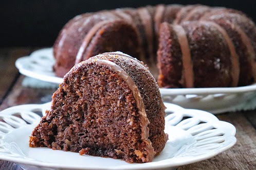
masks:
[[[72,17],[102,9],[156,4],[204,4],[245,12],[256,21],[256,1],[1,1],[0,47],[52,46],[59,31]]]

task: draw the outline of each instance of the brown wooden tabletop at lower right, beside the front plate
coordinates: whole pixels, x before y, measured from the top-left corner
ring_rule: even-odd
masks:
[[[255,111],[253,111],[254,114]],[[205,161],[178,167],[187,169],[255,169],[256,131],[242,112],[217,116],[220,120],[232,123],[236,128],[236,144],[229,150]]]

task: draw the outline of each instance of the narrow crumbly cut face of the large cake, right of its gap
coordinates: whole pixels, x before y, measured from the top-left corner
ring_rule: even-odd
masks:
[[[168,23],[160,26],[158,55],[158,84],[163,88],[181,88],[182,53],[178,37]]]

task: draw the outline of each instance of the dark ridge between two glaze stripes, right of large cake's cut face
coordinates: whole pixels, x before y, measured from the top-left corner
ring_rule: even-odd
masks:
[[[182,27],[190,44],[194,87],[231,87],[231,54],[222,33],[205,23],[189,22]]]

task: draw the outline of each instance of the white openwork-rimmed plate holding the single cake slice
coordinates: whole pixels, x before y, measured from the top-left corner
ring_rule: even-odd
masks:
[[[26,104],[0,112],[0,159],[20,163],[24,169],[175,169],[214,157],[232,147],[235,127],[199,110],[167,107],[166,129],[169,140],[159,156],[149,163],[126,163],[112,158],[80,156],[78,153],[54,151],[28,145],[33,128],[50,103]]]

